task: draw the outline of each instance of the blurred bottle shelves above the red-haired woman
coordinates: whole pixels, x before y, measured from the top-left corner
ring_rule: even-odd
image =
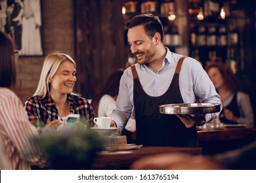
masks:
[[[233,67],[229,59],[230,50],[234,50],[236,65],[241,65],[246,20],[241,3],[238,0],[189,0],[190,56],[200,59],[203,65],[217,58]]]

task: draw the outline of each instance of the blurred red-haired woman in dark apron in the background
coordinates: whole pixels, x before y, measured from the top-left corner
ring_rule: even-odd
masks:
[[[240,82],[230,67],[223,62],[211,62],[205,67],[215,89],[221,96],[223,110],[220,120],[224,124],[245,124],[253,127],[254,117],[249,95],[240,91]]]

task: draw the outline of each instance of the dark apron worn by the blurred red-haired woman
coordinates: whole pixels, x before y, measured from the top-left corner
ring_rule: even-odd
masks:
[[[230,102],[230,104],[228,106],[226,106],[225,108],[228,109],[228,110],[231,110],[233,115],[236,116],[236,117],[240,117],[240,112],[239,112],[239,108],[238,108],[238,101],[236,99],[236,94],[233,96],[233,99],[232,101]],[[230,120],[227,120],[224,116],[224,109],[221,110],[221,114],[219,115],[220,116],[220,120],[222,123],[224,124],[237,124],[237,122],[233,122],[233,121],[230,121]]]

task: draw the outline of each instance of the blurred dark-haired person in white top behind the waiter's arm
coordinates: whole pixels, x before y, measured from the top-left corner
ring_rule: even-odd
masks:
[[[102,90],[96,95],[92,101],[93,109],[95,110],[95,116],[110,116],[113,110],[116,108],[116,99],[119,92],[119,84],[121,76],[123,75],[123,69],[118,69],[112,75],[108,77]],[[127,135],[127,141],[130,142],[131,133],[135,133],[136,123],[135,118],[131,116],[127,125],[125,125],[123,135]]]

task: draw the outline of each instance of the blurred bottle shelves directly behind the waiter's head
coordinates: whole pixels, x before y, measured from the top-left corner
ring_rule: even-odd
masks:
[[[179,2],[179,7],[181,7],[180,4],[181,2]],[[138,14],[152,13],[155,16],[159,16],[165,34],[163,44],[174,52],[177,47],[188,46],[185,43],[186,41],[183,40],[183,27],[185,25],[182,26],[186,24],[184,23],[184,19],[187,18],[187,14],[179,7],[177,7],[177,0],[125,1],[123,6],[123,22],[125,25],[128,20]],[[126,40],[127,38],[125,38]]]

